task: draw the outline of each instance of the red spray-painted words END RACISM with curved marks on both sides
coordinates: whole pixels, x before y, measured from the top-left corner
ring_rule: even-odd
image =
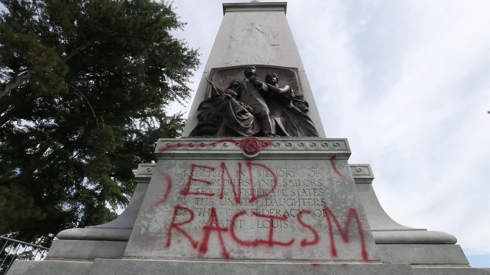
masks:
[[[330,159],[333,170],[335,171],[335,173],[337,175],[339,175],[340,177],[342,177],[344,180],[349,181],[345,176],[343,176],[339,172],[339,170],[337,169],[337,167],[335,165],[334,160],[335,160],[335,156],[333,156]],[[246,162],[246,166],[247,166],[247,169],[249,172],[248,174],[249,174],[249,180],[250,180],[250,189],[252,190],[250,202],[252,202],[253,200],[257,200],[257,199],[269,196],[277,186],[277,177],[274,174],[274,172],[268,166],[263,165],[263,164],[259,164],[259,163]],[[254,193],[255,189],[254,189],[254,185],[253,185],[253,173],[252,173],[253,167],[263,168],[263,169],[267,170],[271,176],[273,176],[273,183],[270,184],[270,186],[271,186],[270,190],[266,193],[263,193],[260,196],[257,196],[256,193]],[[207,185],[211,184],[211,182],[208,180],[197,179],[196,178],[197,176],[194,175],[195,168],[203,168],[203,169],[207,169],[210,171],[215,171],[215,169],[216,169],[215,167],[192,164],[191,171],[190,171],[191,173],[189,175],[188,181],[186,182],[185,188],[182,189],[182,191],[181,191],[181,194],[183,194],[183,195],[215,196],[216,193],[190,192],[191,183],[193,183],[193,182],[206,183]],[[226,180],[229,180],[229,182],[231,183],[231,187],[233,188],[233,194],[234,194],[235,202],[237,205],[239,205],[240,201],[241,201],[241,191],[240,191],[241,190],[241,184],[240,183],[242,181],[242,179],[241,179],[242,163],[238,162],[238,171],[237,171],[238,172],[237,173],[238,183],[236,184],[236,187],[235,187],[235,184],[233,184],[234,180],[232,179],[232,176],[230,175],[230,172],[229,172],[229,170],[226,167],[224,162],[221,162],[220,168],[222,171],[221,186],[219,187],[219,188],[221,188],[221,194],[219,195],[220,199],[223,199],[223,193],[224,193],[223,190],[225,188],[224,187],[225,186],[225,177],[227,177]],[[165,190],[165,193],[164,193],[162,199],[158,202],[158,204],[163,204],[167,201],[168,196],[170,194],[170,190],[172,188],[172,179],[166,173],[160,172],[160,175],[164,176],[166,181],[168,182],[167,189]],[[176,222],[175,220],[177,218],[178,211],[180,211],[181,213],[188,212],[190,214],[190,217],[183,222]],[[313,228],[312,226],[306,224],[301,219],[301,217],[303,215],[311,214],[311,213],[312,212],[310,210],[303,209],[303,210],[299,211],[298,215],[296,215],[297,222],[301,226],[303,226],[304,228],[310,230],[313,234],[313,240],[311,240],[311,238],[310,238],[310,240],[304,238],[299,242],[299,245],[303,248],[308,247],[308,246],[315,246],[320,241],[318,231],[315,228]],[[236,225],[237,219],[240,218],[241,216],[244,216],[245,214],[246,214],[245,210],[242,210],[238,214],[234,214],[234,216],[231,220],[231,224]],[[330,210],[330,208],[328,206],[323,206],[323,214],[326,217],[326,221],[328,223],[329,241],[330,241],[330,249],[331,249],[332,257],[338,257],[337,247],[336,247],[335,240],[334,240],[334,226],[333,226],[332,220],[333,220],[335,226],[337,227],[338,231],[340,232],[340,235],[341,235],[344,243],[349,243],[349,236],[348,236],[349,227],[350,227],[351,221],[354,220],[356,222],[357,229],[359,232],[360,241],[361,241],[362,257],[364,260],[368,260],[368,252],[366,249],[364,232],[363,232],[363,229],[361,226],[361,221],[359,219],[357,211],[354,208],[349,208],[348,213],[347,213],[347,218],[345,220],[345,224],[343,227],[340,225],[339,221],[337,220],[337,217],[334,215],[334,213]],[[217,211],[216,211],[215,207],[212,207],[211,208],[211,215],[209,216],[206,224],[202,227],[202,231],[201,231],[201,234],[203,234],[202,239],[200,241],[197,241],[197,238],[195,239],[193,236],[191,236],[188,232],[186,232],[182,228],[183,226],[190,224],[194,221],[194,217],[195,217],[194,212],[191,209],[184,207],[184,206],[174,206],[174,213],[173,213],[172,221],[170,223],[170,226],[168,229],[168,234],[167,234],[168,238],[167,238],[167,242],[166,242],[166,247],[168,248],[171,246],[172,232],[174,232],[175,230],[179,231],[185,238],[187,238],[188,241],[190,242],[190,244],[192,245],[192,247],[200,253],[207,253],[208,252],[208,243],[210,241],[211,233],[213,231],[216,231],[216,233],[218,235],[219,242],[220,242],[220,246],[221,246],[221,254],[226,259],[231,258],[230,253],[226,249],[225,241],[223,238],[223,234],[225,234],[226,232],[229,232],[230,236],[234,240],[234,242],[240,246],[257,247],[259,245],[266,245],[269,247],[273,247],[273,246],[289,247],[289,246],[294,244],[295,238],[292,238],[288,242],[281,242],[281,241],[274,240],[274,228],[276,228],[276,227],[273,226],[273,222],[276,221],[276,223],[277,223],[278,221],[287,221],[288,216],[286,214],[283,214],[282,216],[280,216],[280,215],[273,216],[273,215],[259,214],[258,212],[251,212],[251,216],[256,216],[259,218],[265,218],[268,220],[268,221],[265,221],[265,222],[269,222],[269,225],[270,225],[268,237],[265,237],[264,239],[256,238],[256,239],[252,239],[252,240],[244,240],[244,239],[240,238],[237,235],[237,232],[236,232],[237,227],[236,226],[231,226],[229,229],[226,227],[220,226],[219,219],[217,217]]]

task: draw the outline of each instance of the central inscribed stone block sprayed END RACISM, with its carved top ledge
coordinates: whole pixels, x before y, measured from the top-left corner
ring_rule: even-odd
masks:
[[[378,260],[346,140],[244,140],[161,139],[124,255]]]

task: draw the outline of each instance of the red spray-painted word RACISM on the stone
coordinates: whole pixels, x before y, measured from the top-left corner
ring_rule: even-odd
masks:
[[[188,213],[187,219],[181,222],[176,222],[177,216],[179,213],[186,212]],[[202,229],[199,233],[201,237],[192,236],[188,231],[184,229],[185,226],[195,226],[191,225],[194,221],[195,213],[193,210],[184,207],[184,206],[175,206],[172,216],[172,222],[168,228],[167,233],[167,242],[166,247],[170,247],[172,245],[172,234],[175,232],[179,232],[182,234],[191,244],[191,246],[196,249],[200,253],[208,252],[208,243],[210,242],[210,235],[216,234],[218,236],[220,242],[221,255],[230,259],[232,256],[228,252],[227,244],[224,241],[223,235],[230,234],[231,239],[234,244],[238,246],[244,247],[258,247],[258,246],[268,246],[268,247],[290,247],[294,243],[299,243],[299,246],[305,248],[309,246],[317,246],[320,245],[320,235],[319,231],[328,231],[328,242],[330,246],[330,254],[332,257],[338,257],[337,246],[335,243],[334,232],[339,232],[344,243],[349,243],[349,227],[351,222],[354,221],[357,226],[357,232],[361,243],[361,255],[364,260],[368,260],[368,251],[366,250],[366,244],[364,239],[363,228],[361,222],[359,220],[359,216],[357,211],[354,208],[350,208],[347,212],[347,218],[345,219],[345,223],[343,226],[339,223],[336,215],[332,212],[332,210],[328,206],[323,206],[323,213],[326,221],[326,228],[314,228],[312,225],[307,224],[303,218],[311,215],[312,212],[310,210],[303,209],[299,211],[296,215],[296,218],[291,219],[287,215],[265,215],[258,212],[251,212],[249,215],[246,211],[240,211],[235,213],[231,221],[226,220],[226,224],[223,223],[223,220],[220,220],[218,217],[217,211],[215,207],[210,209],[210,214],[207,222],[202,226]],[[266,238],[252,238],[245,239],[244,235],[246,235],[247,229],[242,229],[242,222],[245,219],[255,218],[259,219],[257,221],[258,228],[267,229],[268,235]],[[303,231],[310,232],[310,236],[308,238],[303,238],[301,240],[296,240],[294,236],[291,237],[289,241],[278,241],[274,235],[275,229],[280,228],[289,228],[292,222],[295,222],[304,228]],[[335,225],[335,226],[334,226]]]

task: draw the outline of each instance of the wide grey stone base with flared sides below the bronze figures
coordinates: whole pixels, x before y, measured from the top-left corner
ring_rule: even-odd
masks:
[[[250,156],[244,153],[245,141],[239,139],[159,140],[158,163],[140,164],[135,194],[116,220],[60,232],[45,260],[16,261],[8,275],[490,274],[489,269],[470,268],[461,247],[455,245],[454,236],[394,222],[376,198],[370,166],[348,164],[347,140],[278,138],[258,144],[263,150]],[[262,181],[268,177],[274,180]],[[240,199],[233,192],[226,192],[233,190],[231,182],[235,178],[237,183],[242,180],[242,187],[235,187],[243,189],[243,196],[251,196],[247,190],[260,189],[261,193],[253,192],[257,202],[252,204],[242,198],[243,203],[237,205]],[[212,180],[216,184],[210,184]],[[257,184],[247,185],[246,180]],[[273,184],[267,185],[268,182]],[[259,188],[260,183],[263,186]],[[199,188],[189,189],[199,193],[186,196],[186,186]],[[204,194],[204,190],[209,194]],[[219,194],[229,199],[221,199]],[[215,197],[214,203],[205,203],[212,201],[206,197]],[[282,201],[305,205],[280,206]],[[324,210],[320,211],[317,204],[323,201],[328,207],[320,207]],[[175,206],[186,208],[194,216],[174,212]],[[207,210],[215,207],[216,210]],[[271,230],[263,222],[264,216],[252,213],[243,215],[242,224],[227,227],[228,209],[238,208],[242,211],[238,214],[242,214],[247,207],[263,215],[266,210],[269,214],[282,214],[271,208],[284,207],[290,216],[267,218],[288,224],[281,227],[275,223]],[[296,212],[303,216],[299,214],[298,218],[289,208],[299,208]],[[356,216],[348,215],[349,211],[354,212],[348,209],[356,209]],[[234,212],[232,222],[236,215]],[[213,217],[222,222],[206,226]],[[174,229],[172,238],[168,233],[171,224],[179,228]],[[205,229],[209,229],[209,234]],[[291,244],[286,244],[293,238]],[[209,244],[209,250],[200,249],[203,245],[191,246],[190,240]]]

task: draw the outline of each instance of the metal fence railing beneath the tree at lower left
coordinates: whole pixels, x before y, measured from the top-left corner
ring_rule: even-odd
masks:
[[[7,274],[14,260],[40,260],[49,248],[0,236],[0,275]],[[21,252],[22,251],[22,252]]]

